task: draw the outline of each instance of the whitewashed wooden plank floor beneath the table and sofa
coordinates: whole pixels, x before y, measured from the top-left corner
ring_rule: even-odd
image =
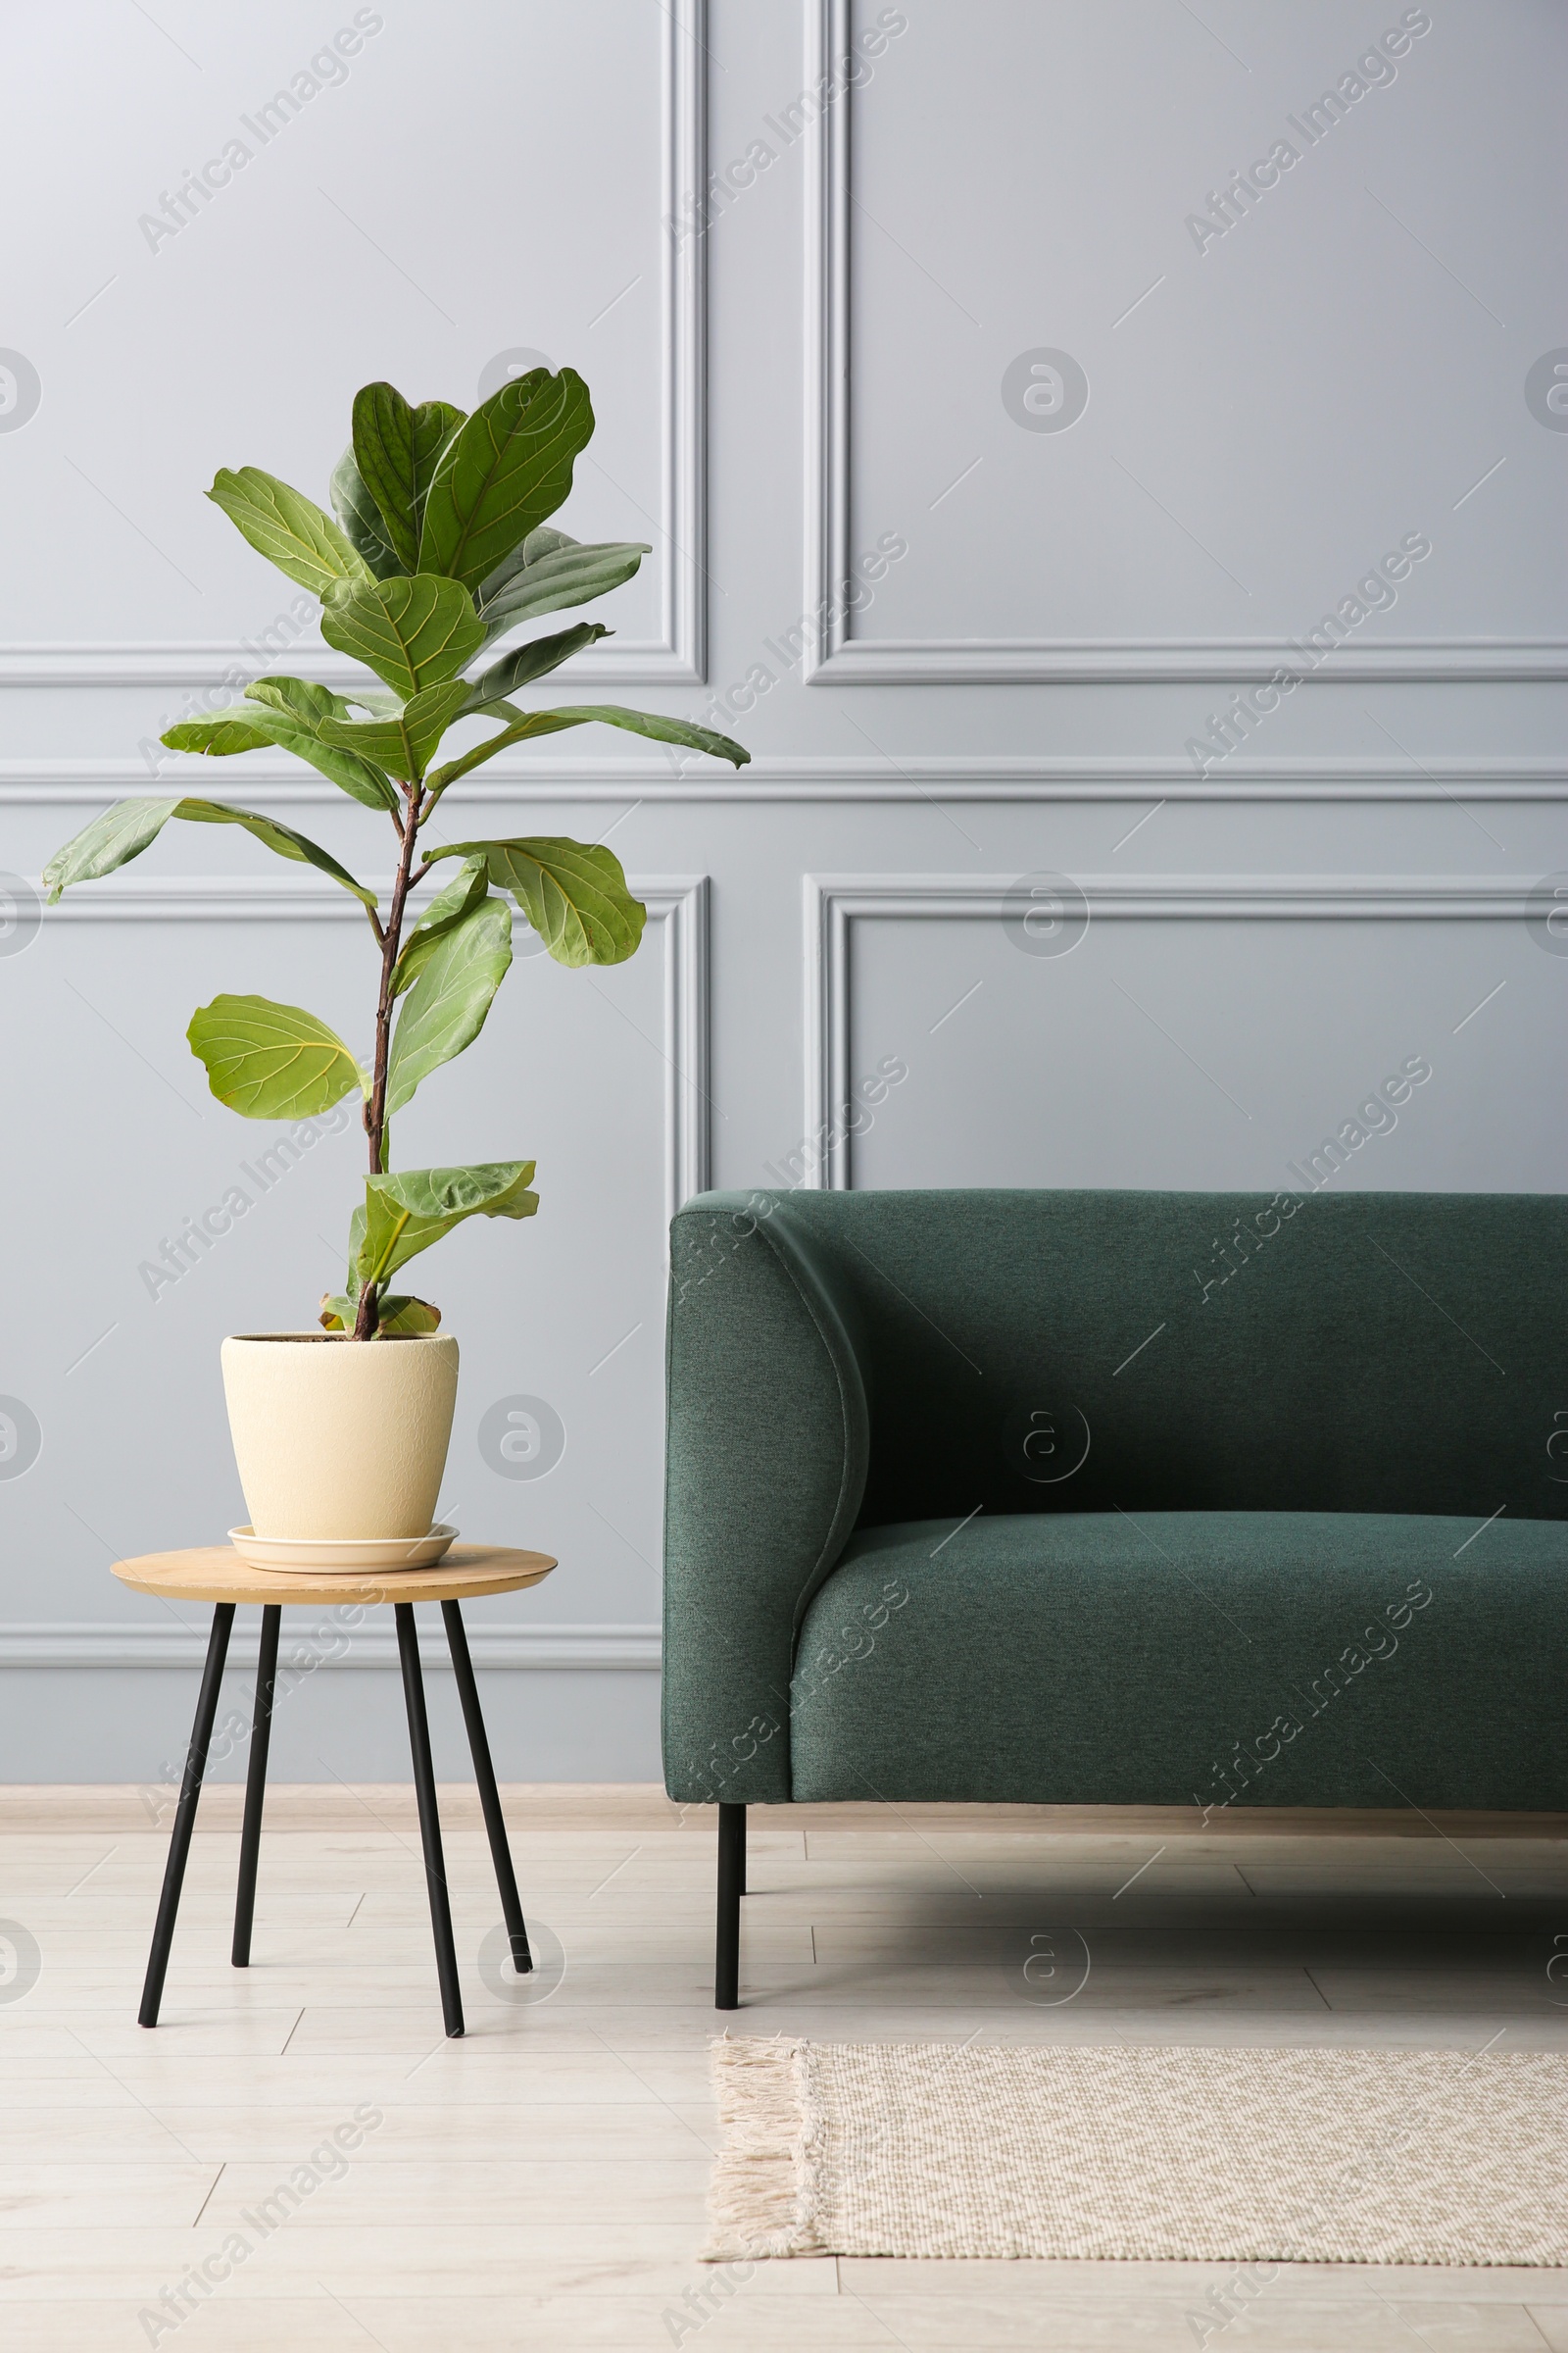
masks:
[[[797,2261],[722,2301],[696,2261],[712,1814],[508,1791],[545,1953],[520,2002],[480,1967],[473,1791],[442,1791],[447,2042],[411,1793],[270,1793],[249,1972],[237,1795],[205,1800],[143,2033],[167,1821],[136,1791],[0,1793],[0,1967],[5,1939],[40,1955],[0,1977],[5,2353],[1568,2348],[1568,2273],[1291,2266],[1239,2308],[1222,2266]],[[750,1875],[736,2033],[1568,2047],[1563,1821],[797,1807],[752,1812]],[[200,2292],[202,2264],[228,2278]]]

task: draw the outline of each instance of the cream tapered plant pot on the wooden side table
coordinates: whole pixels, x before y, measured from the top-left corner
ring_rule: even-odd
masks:
[[[223,1341],[228,1431],[259,1537],[423,1537],[447,1468],[458,1344],[244,1332]]]

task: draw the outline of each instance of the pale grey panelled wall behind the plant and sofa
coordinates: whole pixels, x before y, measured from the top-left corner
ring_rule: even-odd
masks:
[[[404,1162],[538,1158],[538,1221],[437,1287],[444,1504],[562,1560],[475,1612],[503,1772],[656,1772],[663,1221],[708,1176],[1279,1186],[1425,1056],[1333,1181],[1561,1184],[1552,0],[94,0],[2,38],[5,868],[188,774],[388,868],[282,758],[158,751],[247,675],[343,673],[200,494],[320,496],[362,381],[470,405],[517,351],[595,393],[562,522],[656,544],[581,682],[755,751],[585,729],[444,809],[609,835],[656,915],[614,972],[520,958],[400,1122]],[[308,1320],[360,1167],[320,1134],[263,1191],[183,1026],[256,988],[355,1038],[369,944],[195,828],[42,925],[12,894],[0,1777],[158,1779],[202,1612],[108,1562],[242,1515],[219,1339]],[[515,1398],[564,1428],[541,1478],[480,1445]],[[400,1772],[386,1635],[301,1645],[277,1772]]]

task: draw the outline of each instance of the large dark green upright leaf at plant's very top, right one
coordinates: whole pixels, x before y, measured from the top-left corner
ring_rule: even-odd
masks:
[[[421,572],[477,588],[571,489],[592,435],[588,386],[571,367],[512,376],[447,445],[418,534]]]

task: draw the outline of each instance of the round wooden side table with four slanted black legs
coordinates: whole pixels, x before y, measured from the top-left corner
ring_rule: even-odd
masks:
[[[418,1793],[418,1838],[425,1849],[425,1887],[430,1892],[430,1927],[435,1929],[435,1974],[442,1988],[442,2017],[449,2035],[463,2033],[463,2000],[458,1993],[458,1955],[451,1941],[451,1901],[447,1897],[447,1864],[442,1857],[442,1821],[435,1807],[435,1769],[430,1765],[430,1720],[425,1715],[425,1682],[418,1671],[418,1633],[414,1626],[414,1602],[440,1602],[451,1652],[451,1673],[463,1704],[468,1746],[473,1751],[489,1852],[496,1864],[501,1887],[501,1911],[512,1948],[512,1967],[522,1974],[534,1967],[529,1934],[522,1922],[517,1899],[517,1875],[512,1849],[505,1842],[505,1819],[496,1788],[496,1767],[489,1755],[484,1715],[480,1713],[480,1689],[468,1657],[463,1633],[463,1602],[475,1593],[515,1593],[517,1586],[536,1586],[555,1567],[548,1553],[517,1553],[489,1544],[454,1544],[444,1560],[430,1569],[395,1569],[376,1577],[313,1577],[296,1569],[254,1569],[228,1544],[207,1544],[188,1553],[143,1553],[139,1560],[118,1560],[115,1577],[136,1593],[160,1593],[174,1602],[214,1602],[212,1638],[207,1642],[207,1666],[202,1689],[195,1701],[195,1725],[190,1751],[179,1786],[174,1812],[174,1838],[158,1901],[158,1925],[153,1927],[153,1951],[141,1988],[141,2026],[158,2026],[162,1981],[169,1967],[174,1941],[174,1918],[179,1892],[190,1854],[195,1807],[202,1795],[207,1748],[219,1713],[219,1687],[228,1657],[228,1633],[240,1602],[261,1602],[261,1657],[256,1666],[256,1715],[252,1727],[252,1753],[244,1777],[244,1824],[240,1831],[240,1889],[235,1897],[235,1969],[249,1967],[252,1918],[256,1911],[256,1859],[261,1854],[261,1805],[266,1798],[266,1753],[273,1732],[273,1687],[277,1680],[277,1631],[289,1602],[390,1602],[397,1617],[397,1659],[402,1664],[402,1697],[409,1711],[409,1748],[414,1755],[414,1788]]]

